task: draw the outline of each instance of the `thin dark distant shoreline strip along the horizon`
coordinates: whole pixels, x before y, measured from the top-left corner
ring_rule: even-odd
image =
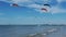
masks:
[[[23,26],[66,26],[66,24],[0,24],[0,25],[23,25]]]

